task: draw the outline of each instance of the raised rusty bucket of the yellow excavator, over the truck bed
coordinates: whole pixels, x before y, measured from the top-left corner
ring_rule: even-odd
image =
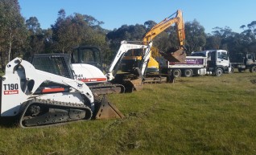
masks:
[[[186,52],[184,49],[180,48],[178,50],[171,50],[167,53],[160,52],[164,59],[170,62],[184,62],[186,59]]]

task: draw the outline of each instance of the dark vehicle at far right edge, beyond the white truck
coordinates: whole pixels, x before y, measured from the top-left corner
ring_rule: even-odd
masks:
[[[238,53],[235,55],[234,59],[232,59],[231,64],[234,68],[237,68],[239,72],[246,71],[247,69],[249,69],[250,72],[256,72],[254,53]]]

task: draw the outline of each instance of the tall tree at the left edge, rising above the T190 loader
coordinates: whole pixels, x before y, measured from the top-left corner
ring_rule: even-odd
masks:
[[[24,18],[20,14],[18,0],[0,1],[0,51],[2,69],[7,61],[20,55],[27,39]],[[6,59],[7,58],[7,59]]]

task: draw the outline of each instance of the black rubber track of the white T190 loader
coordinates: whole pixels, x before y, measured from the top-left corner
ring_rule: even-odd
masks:
[[[93,116],[93,112],[85,104],[39,99],[24,102],[21,112],[19,126],[22,128],[36,128],[65,124],[77,120],[90,120]]]

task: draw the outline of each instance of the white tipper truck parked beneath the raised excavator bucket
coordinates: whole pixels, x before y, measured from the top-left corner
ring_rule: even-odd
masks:
[[[220,76],[224,72],[233,72],[233,67],[229,62],[228,51],[207,50],[192,52],[183,63],[168,62],[160,60],[162,73],[168,73],[174,77],[181,75],[189,77],[192,75],[216,75]]]

